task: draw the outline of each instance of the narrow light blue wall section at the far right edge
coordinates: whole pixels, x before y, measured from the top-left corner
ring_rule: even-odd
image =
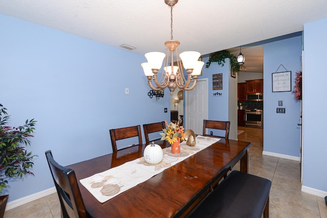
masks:
[[[327,195],[327,116],[325,101],[327,19],[304,27],[303,70],[303,185],[323,190]]]

